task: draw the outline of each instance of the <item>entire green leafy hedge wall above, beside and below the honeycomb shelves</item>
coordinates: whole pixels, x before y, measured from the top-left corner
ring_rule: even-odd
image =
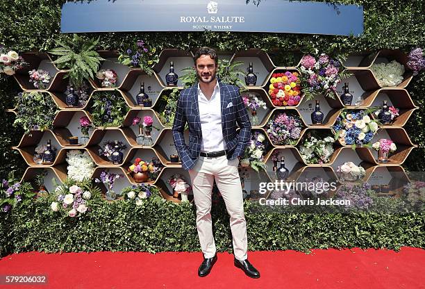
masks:
[[[120,1],[120,0],[117,0]],[[241,0],[243,1],[243,0]],[[0,44],[17,51],[48,51],[60,35],[60,8],[63,0],[0,1]],[[247,5],[253,5],[249,3]],[[295,65],[301,53],[319,51],[350,53],[378,49],[425,48],[425,1],[365,0],[340,1],[364,6],[365,32],[358,38],[272,33],[94,33],[100,36],[100,49],[125,49],[126,44],[143,39],[157,49],[192,49],[210,46],[222,51],[259,48],[272,56],[276,65]],[[260,3],[267,5],[267,1]],[[300,21],[303,21],[301,18]],[[284,22],[276,19],[276,24]],[[424,73],[416,76],[408,90],[420,109],[410,118],[406,129],[419,145],[412,151],[407,170],[425,168]],[[22,157],[10,147],[17,145],[22,131],[11,126],[13,115],[4,108],[12,106],[19,91],[13,79],[0,83],[0,177],[10,170],[22,174]],[[327,247],[425,247],[425,215],[382,214],[274,214],[258,213],[245,203],[250,250]],[[214,231],[219,250],[231,250],[228,215],[223,205],[213,206]],[[49,210],[46,200],[28,208],[1,215],[0,250],[8,252],[45,251],[197,251],[199,241],[194,206],[147,201],[142,206],[117,201],[99,201],[81,220],[59,219]]]

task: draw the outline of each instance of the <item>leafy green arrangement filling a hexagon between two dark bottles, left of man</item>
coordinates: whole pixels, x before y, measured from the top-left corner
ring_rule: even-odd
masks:
[[[94,126],[120,126],[129,109],[117,91],[93,94],[92,101],[90,113]]]

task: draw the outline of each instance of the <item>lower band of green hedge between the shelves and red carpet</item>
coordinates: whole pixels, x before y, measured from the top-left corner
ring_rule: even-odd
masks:
[[[0,254],[22,251],[199,251],[194,205],[150,198],[91,202],[81,219],[61,218],[47,199],[12,210],[0,222]],[[311,248],[425,248],[425,215],[313,214],[258,210],[244,203],[249,250]],[[232,251],[224,202],[213,206],[218,251]],[[2,216],[3,218],[3,216]]]

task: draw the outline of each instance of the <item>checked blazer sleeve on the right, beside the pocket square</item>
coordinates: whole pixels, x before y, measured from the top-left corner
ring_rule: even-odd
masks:
[[[240,127],[238,145],[235,148],[236,156],[243,156],[245,147],[247,147],[249,140],[251,139],[251,122],[249,121],[249,116],[247,113],[247,108],[245,108],[244,101],[242,96],[239,93],[239,88],[235,86],[235,93],[237,94],[237,104],[236,104],[236,122]]]

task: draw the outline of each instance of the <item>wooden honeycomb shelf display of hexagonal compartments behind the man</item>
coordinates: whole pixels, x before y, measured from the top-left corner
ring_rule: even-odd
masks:
[[[30,135],[24,135],[22,140],[16,147],[22,157],[28,164],[28,168],[22,177],[23,180],[33,178],[41,170],[47,170],[45,183],[47,190],[53,190],[50,185],[52,178],[58,183],[64,181],[67,177],[66,154],[70,149],[81,149],[88,151],[92,160],[96,165],[92,178],[97,178],[102,170],[113,170],[115,173],[124,174],[126,177],[119,180],[117,191],[124,188],[126,185],[135,184],[135,180],[131,174],[127,174],[128,167],[134,162],[135,158],[150,160],[157,158],[163,165],[162,170],[158,173],[158,177],[149,181],[151,185],[156,185],[161,192],[161,195],[167,200],[180,202],[179,199],[172,197],[172,188],[168,183],[168,179],[173,174],[182,174],[187,181],[190,181],[188,172],[181,168],[181,163],[172,163],[170,156],[176,154],[172,139],[172,131],[169,126],[161,123],[158,111],[158,101],[160,97],[177,88],[182,90],[182,83],[178,82],[176,87],[166,85],[165,76],[169,72],[169,63],[174,63],[174,72],[178,76],[183,75],[182,69],[193,65],[192,51],[182,51],[178,49],[165,49],[160,53],[159,62],[153,67],[154,73],[148,75],[142,69],[135,69],[122,65],[117,61],[117,51],[99,51],[100,55],[106,60],[102,61],[101,69],[114,69],[117,72],[118,80],[115,88],[101,88],[99,80],[92,79],[89,83],[88,100],[84,106],[69,107],[65,103],[65,91],[67,90],[68,79],[65,78],[67,71],[58,69],[47,53],[24,53],[24,60],[29,63],[25,70],[15,74],[15,79],[19,83],[20,88],[24,92],[39,91],[51,97],[58,106],[58,114],[53,121],[53,128],[47,131],[32,131]],[[349,79],[346,79],[337,89],[337,98],[330,99],[319,96],[320,108],[324,113],[324,121],[322,124],[312,124],[310,114],[315,108],[315,99],[306,100],[301,95],[301,101],[296,106],[274,106],[267,92],[269,91],[270,79],[272,74],[281,72],[299,72],[298,63],[295,67],[277,67],[272,62],[267,53],[259,49],[249,49],[247,51],[239,51],[237,53],[218,52],[219,56],[234,61],[242,61],[243,69],[253,63],[253,73],[257,76],[256,85],[247,86],[247,91],[242,94],[255,94],[258,99],[265,101],[267,108],[258,113],[258,124],[253,126],[253,131],[264,133],[269,146],[265,151],[264,161],[267,164],[267,170],[257,174],[251,167],[240,167],[244,174],[244,188],[249,191],[258,190],[258,183],[264,181],[276,180],[276,174],[272,170],[274,162],[272,154],[278,151],[285,158],[285,165],[290,171],[290,180],[298,180],[306,177],[312,177],[315,174],[321,174],[328,179],[338,179],[338,165],[351,161],[355,165],[361,165],[365,168],[365,177],[363,181],[369,181],[375,185],[390,185],[394,190],[401,187],[403,180],[408,179],[403,167],[406,158],[417,147],[413,145],[408,137],[408,133],[403,129],[403,126],[408,122],[412,113],[417,110],[417,106],[410,98],[406,86],[412,79],[412,74],[406,72],[403,75],[403,81],[397,87],[381,87],[378,85],[376,78],[371,70],[374,63],[388,62],[397,60],[399,63],[406,65],[406,55],[397,50],[383,50],[377,53],[358,53],[347,58],[344,67],[346,72],[351,73]],[[31,69],[44,69],[51,74],[51,83],[45,90],[33,89],[33,84],[29,82],[28,71]],[[244,79],[241,79],[244,81]],[[349,106],[344,106],[340,100],[340,95],[343,92],[342,85],[344,82],[349,83],[350,93],[353,94],[353,103]],[[152,101],[151,106],[139,106],[136,95],[139,93],[140,85],[144,83],[144,89]],[[128,113],[124,117],[124,121],[119,127],[94,128],[90,131],[89,140],[85,144],[78,142],[77,145],[71,145],[69,138],[77,136],[81,138],[81,131],[78,129],[78,119],[82,116],[92,120],[90,115],[90,99],[93,94],[102,93],[103,91],[117,90],[123,97],[128,106]],[[376,142],[379,138],[389,138],[397,144],[397,150],[394,151],[388,158],[387,163],[377,161],[377,152],[369,147],[357,147],[351,149],[347,145],[341,145],[338,141],[334,144],[334,151],[330,157],[329,163],[322,165],[307,164],[301,158],[299,144],[303,136],[309,131],[319,130],[334,133],[333,126],[337,121],[338,116],[345,109],[361,110],[381,106],[383,101],[388,101],[389,105],[399,108],[399,116],[390,124],[380,125],[372,142]],[[353,105],[353,104],[357,105]],[[8,110],[17,114],[17,108]],[[302,122],[301,136],[296,145],[273,145],[267,136],[267,122],[277,113],[292,113],[297,115]],[[248,112],[250,115],[250,113]],[[151,132],[152,145],[139,145],[136,138],[138,137],[138,127],[132,125],[134,117],[149,115],[153,119],[153,126],[158,129],[153,129]],[[377,118],[371,115],[371,118]],[[188,131],[185,131],[186,142],[188,142]],[[52,164],[43,165],[35,163],[33,159],[35,147],[42,145],[47,140],[51,140],[52,146],[56,147],[56,160]],[[99,148],[106,140],[119,140],[126,145],[124,149],[124,158],[122,163],[113,165],[105,157],[99,156]],[[340,182],[340,184],[343,182]],[[101,188],[105,192],[105,188]],[[192,199],[192,197],[190,197]]]

